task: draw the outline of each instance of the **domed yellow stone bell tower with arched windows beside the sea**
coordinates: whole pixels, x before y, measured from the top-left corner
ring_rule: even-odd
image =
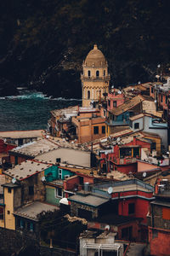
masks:
[[[99,101],[103,93],[108,93],[110,81],[107,61],[97,44],[88,53],[82,68],[82,107],[91,107],[91,102]]]

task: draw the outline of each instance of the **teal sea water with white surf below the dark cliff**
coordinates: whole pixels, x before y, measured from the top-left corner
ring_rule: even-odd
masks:
[[[0,97],[0,131],[46,129],[51,110],[81,104],[80,99],[52,98],[42,92],[20,90],[18,96]]]

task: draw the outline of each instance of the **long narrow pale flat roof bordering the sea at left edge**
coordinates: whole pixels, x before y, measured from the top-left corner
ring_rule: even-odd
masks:
[[[3,138],[29,138],[42,137],[43,130],[29,130],[29,131],[0,131],[0,137]]]

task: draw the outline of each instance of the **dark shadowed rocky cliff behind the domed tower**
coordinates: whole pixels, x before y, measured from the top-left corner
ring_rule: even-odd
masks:
[[[6,0],[0,8],[0,96],[16,87],[81,96],[82,60],[96,43],[116,86],[155,79],[170,62],[169,1]]]

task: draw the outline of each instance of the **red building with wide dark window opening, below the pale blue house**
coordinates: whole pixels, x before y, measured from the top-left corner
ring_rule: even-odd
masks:
[[[129,142],[130,141],[130,142]],[[144,138],[127,137],[116,143],[112,152],[100,155],[100,166],[107,167],[107,171],[119,171],[124,173],[137,172],[137,160],[141,155],[141,148],[148,148],[151,143]]]

